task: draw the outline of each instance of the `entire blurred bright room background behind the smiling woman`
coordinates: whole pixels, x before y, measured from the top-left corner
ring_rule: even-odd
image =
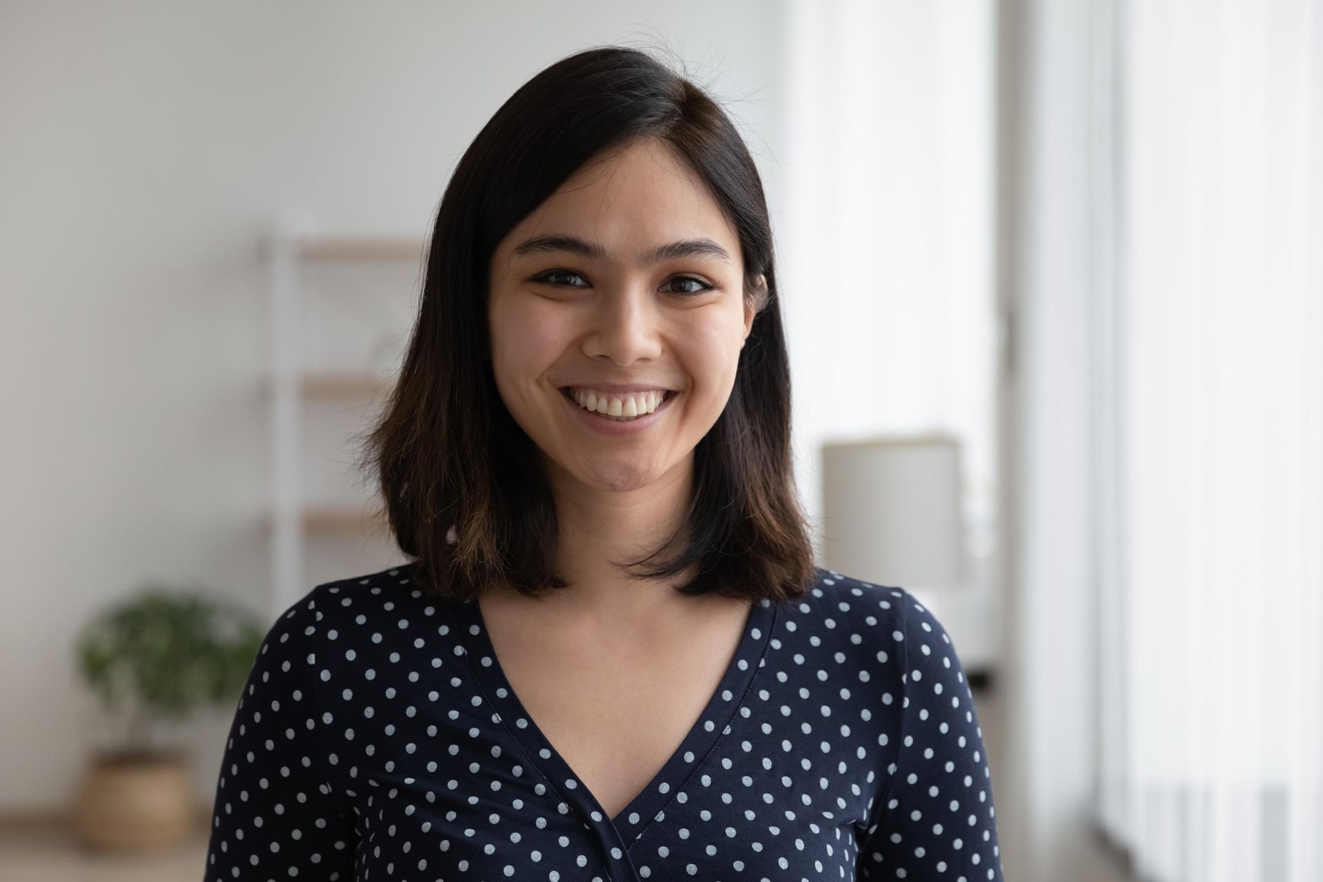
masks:
[[[1323,879],[1320,0],[0,3],[0,878],[202,875],[253,628],[405,559],[445,184],[603,42],[745,134],[823,562],[946,624],[1007,879]]]

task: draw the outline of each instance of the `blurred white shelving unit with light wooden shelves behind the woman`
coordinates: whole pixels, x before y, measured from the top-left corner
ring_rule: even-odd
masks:
[[[283,610],[312,586],[307,578],[307,540],[343,537],[360,542],[384,526],[380,500],[315,502],[308,499],[307,414],[319,401],[368,402],[389,390],[380,369],[363,364],[328,369],[310,365],[304,336],[315,291],[306,284],[310,267],[397,263],[418,267],[422,238],[324,235],[303,213],[280,214],[266,242],[270,288],[271,373],[269,385],[271,443],[271,599]]]

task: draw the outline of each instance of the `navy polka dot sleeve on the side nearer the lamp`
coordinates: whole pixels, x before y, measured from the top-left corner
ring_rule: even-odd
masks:
[[[1002,882],[992,780],[960,660],[946,629],[908,591],[900,631],[896,764],[859,845],[860,879]]]

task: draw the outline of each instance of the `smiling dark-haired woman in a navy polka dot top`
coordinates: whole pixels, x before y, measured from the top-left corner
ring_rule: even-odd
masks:
[[[411,562],[273,625],[208,879],[1000,878],[950,639],[814,565],[762,185],[663,63],[478,135],[365,463]]]

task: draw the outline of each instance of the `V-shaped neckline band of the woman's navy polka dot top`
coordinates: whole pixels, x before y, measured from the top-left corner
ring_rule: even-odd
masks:
[[[524,748],[528,762],[542,774],[562,800],[578,808],[594,822],[606,824],[609,832],[626,848],[656,819],[675,793],[684,788],[689,776],[703,766],[722,735],[730,731],[730,721],[744,703],[754,674],[762,666],[762,657],[778,619],[778,606],[771,600],[759,599],[750,604],[740,644],[703,713],[652,780],[635,793],[618,815],[607,817],[597,796],[556,750],[515,693],[501,669],[478,600],[458,606],[464,616],[460,629],[460,637],[467,644],[464,656],[468,657],[474,677],[487,693],[488,702],[511,737]],[[507,715],[511,719],[507,719]]]

